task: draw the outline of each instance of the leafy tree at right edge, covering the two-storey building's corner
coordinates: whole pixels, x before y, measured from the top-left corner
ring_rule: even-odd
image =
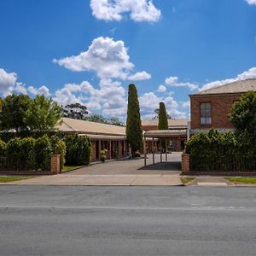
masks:
[[[230,121],[238,132],[247,131],[256,138],[256,92],[248,91],[235,102],[230,113]]]

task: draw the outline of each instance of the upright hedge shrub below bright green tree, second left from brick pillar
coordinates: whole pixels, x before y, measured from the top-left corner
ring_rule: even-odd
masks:
[[[52,146],[49,137],[39,137],[35,142],[35,169],[40,171],[50,170],[50,156],[52,154]]]

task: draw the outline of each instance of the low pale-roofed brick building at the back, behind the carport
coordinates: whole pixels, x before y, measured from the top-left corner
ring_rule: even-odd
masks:
[[[187,119],[168,119],[168,130],[172,131],[172,150],[181,151],[185,147],[188,134],[188,122]],[[148,119],[142,121],[143,131],[155,131],[158,130],[158,119]],[[151,152],[153,145],[148,141],[148,152]],[[155,142],[157,143],[157,142]],[[159,145],[156,145],[158,147]]]

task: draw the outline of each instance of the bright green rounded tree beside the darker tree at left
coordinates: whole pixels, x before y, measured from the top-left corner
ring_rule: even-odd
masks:
[[[45,133],[55,130],[62,117],[62,108],[52,99],[36,96],[26,110],[24,122],[32,131]]]

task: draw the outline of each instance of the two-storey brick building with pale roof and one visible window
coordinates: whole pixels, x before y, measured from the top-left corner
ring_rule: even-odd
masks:
[[[216,128],[234,130],[229,113],[232,104],[249,90],[256,91],[256,79],[239,80],[190,95],[191,134]]]

